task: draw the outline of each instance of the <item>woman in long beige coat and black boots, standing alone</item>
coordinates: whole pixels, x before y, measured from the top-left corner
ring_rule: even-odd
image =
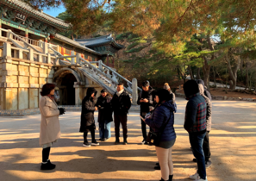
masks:
[[[58,109],[57,103],[54,101],[54,88],[54,84],[44,84],[39,103],[41,112],[39,144],[43,148],[41,170],[55,168],[49,159],[49,154],[53,142],[56,142],[60,137],[59,115],[65,113],[65,109]]]

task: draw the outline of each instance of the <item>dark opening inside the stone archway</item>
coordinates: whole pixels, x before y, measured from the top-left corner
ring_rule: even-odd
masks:
[[[76,104],[76,91],[74,88],[74,82],[77,82],[77,78],[75,78],[72,73],[67,74],[64,78],[62,78],[61,85],[66,86],[66,89],[64,90],[65,94],[63,94],[65,101],[62,102],[64,105]]]

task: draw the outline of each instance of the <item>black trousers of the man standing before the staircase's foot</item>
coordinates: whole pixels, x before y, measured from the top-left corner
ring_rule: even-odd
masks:
[[[115,122],[115,134],[116,138],[120,137],[120,123],[122,124],[122,135],[124,139],[127,139],[127,115],[115,115],[114,114],[114,122]]]

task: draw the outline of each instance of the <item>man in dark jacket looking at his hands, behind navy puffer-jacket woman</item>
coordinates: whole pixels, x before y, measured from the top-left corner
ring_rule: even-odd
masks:
[[[140,91],[140,95],[138,97],[137,104],[140,105],[140,116],[145,118],[145,115],[153,109],[153,88],[149,85],[148,81],[144,81],[142,83],[142,91]],[[143,140],[141,142],[142,145],[147,144],[147,127],[146,123],[140,119],[141,121],[141,131]]]

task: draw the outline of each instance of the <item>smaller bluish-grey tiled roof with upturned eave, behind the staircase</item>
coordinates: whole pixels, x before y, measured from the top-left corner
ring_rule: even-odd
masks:
[[[99,36],[97,38],[91,38],[91,39],[75,39],[75,41],[78,41],[78,43],[86,47],[97,47],[104,44],[112,44],[117,49],[123,48],[122,45],[116,43],[116,41],[112,37],[112,34]]]

